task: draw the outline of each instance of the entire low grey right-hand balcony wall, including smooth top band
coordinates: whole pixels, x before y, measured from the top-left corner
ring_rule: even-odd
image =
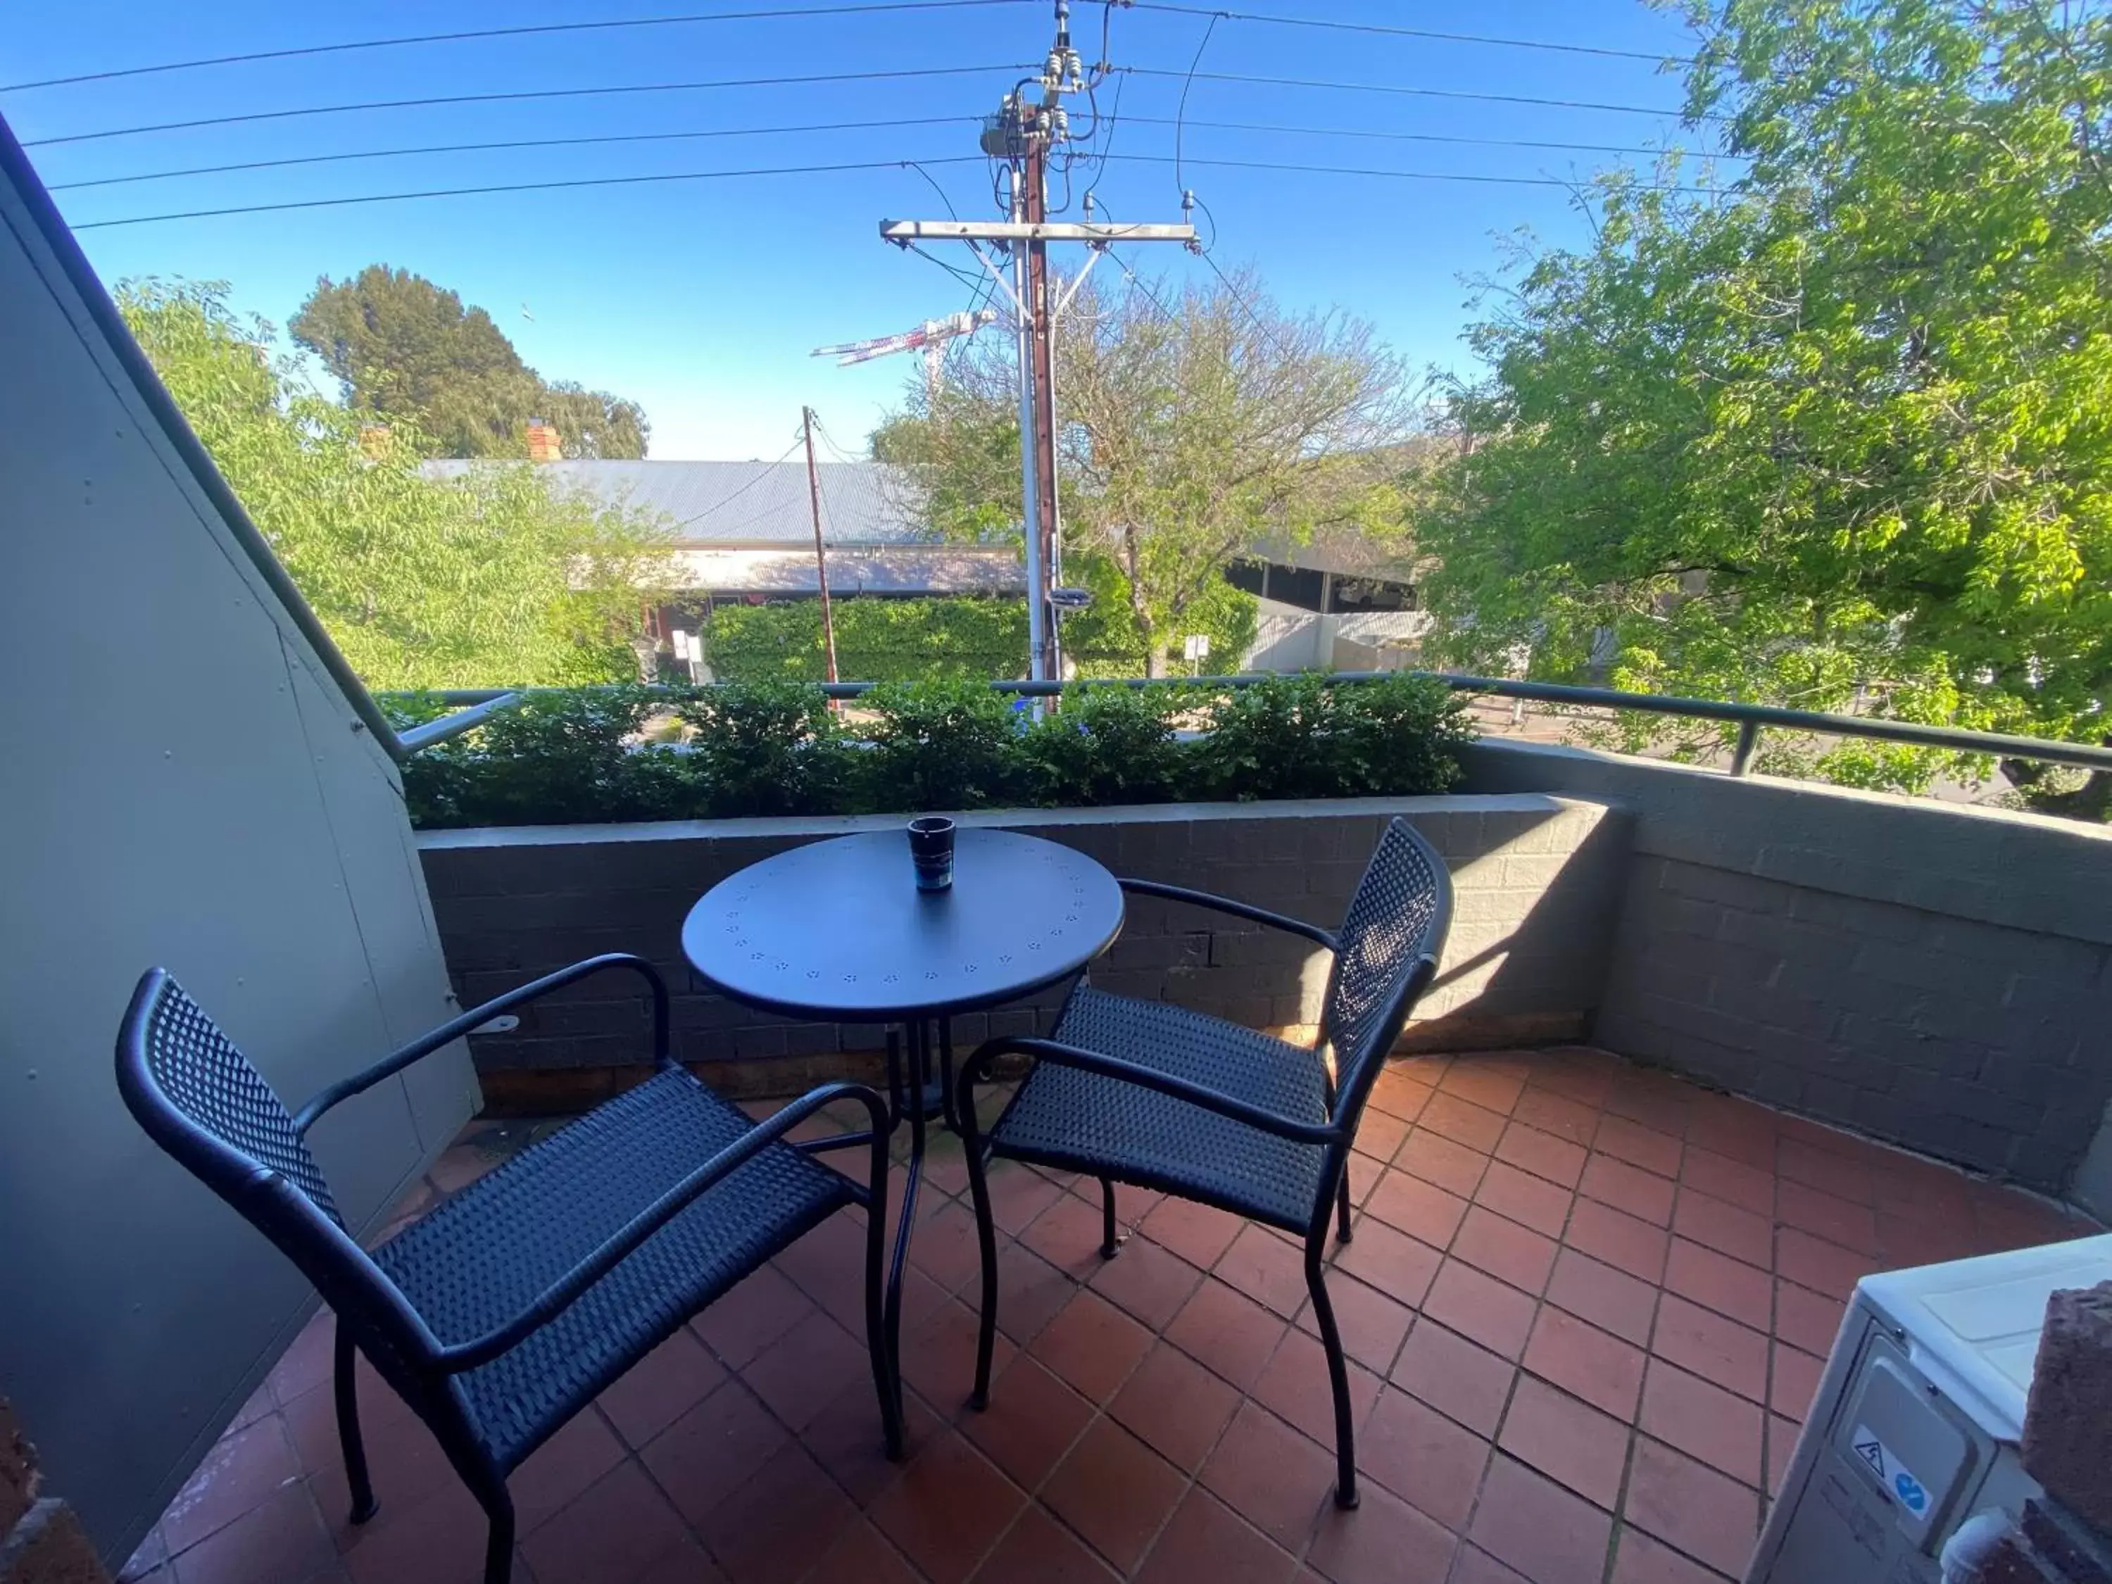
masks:
[[[2089,1191],[2112,1098],[2112,830],[1527,743],[1478,743],[1468,784],[1633,817],[1599,1043]]]

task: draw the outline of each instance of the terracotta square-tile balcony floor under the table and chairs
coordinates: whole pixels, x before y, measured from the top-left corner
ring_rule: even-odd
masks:
[[[993,1096],[995,1098],[995,1096]],[[484,1126],[401,1214],[526,1130]],[[1736,1576],[1856,1276],[2095,1227],[1595,1050],[1396,1062],[1331,1248],[1364,1504],[1337,1512],[1295,1246],[999,1166],[999,1375],[965,1407],[959,1149],[919,1204],[910,1455],[879,1455],[838,1217],[676,1333],[513,1476],[524,1584],[1198,1580],[1692,1584]],[[382,1514],[344,1523],[310,1326],[127,1578],[467,1584],[484,1523],[367,1379]]]

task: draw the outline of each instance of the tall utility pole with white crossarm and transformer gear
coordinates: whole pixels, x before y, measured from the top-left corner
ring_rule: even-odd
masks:
[[[1100,63],[1105,65],[1105,61]],[[1098,68],[1096,68],[1098,70]],[[1109,243],[1195,243],[1191,224],[1107,224],[1092,220],[1062,222],[1048,218],[1050,152],[1069,142],[1071,120],[1062,95],[1083,93],[1086,76],[1071,46],[1071,4],[1056,0],[1056,42],[1037,80],[1039,101],[1026,84],[1003,97],[995,116],[984,118],[982,150],[1012,167],[1012,205],[1005,220],[883,220],[881,237],[908,247],[921,241],[967,243],[976,260],[997,281],[1012,306],[1012,323],[1020,359],[1020,528],[1026,541],[1026,631],[1029,676],[1037,682],[1060,680],[1050,587],[1060,566],[1056,507],[1056,321],[1079,283],[1098,262]],[[1001,270],[984,251],[1010,253],[1012,268]],[[1050,289],[1048,245],[1086,243],[1092,251],[1071,287],[1058,296]],[[1010,275],[1010,279],[1007,279]]]

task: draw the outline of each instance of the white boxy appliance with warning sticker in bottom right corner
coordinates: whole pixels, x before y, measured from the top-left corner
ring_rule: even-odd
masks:
[[[2019,1514],[2047,1295],[2106,1280],[2112,1236],[1856,1282],[1747,1584],[1937,1584],[1962,1523]]]

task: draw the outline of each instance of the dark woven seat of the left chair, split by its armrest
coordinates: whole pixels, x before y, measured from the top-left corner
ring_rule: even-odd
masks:
[[[441,1343],[526,1309],[754,1124],[667,1071],[522,1151],[374,1250]],[[762,1261],[851,1204],[849,1178],[769,1145],[541,1331],[456,1377],[501,1468]]]

